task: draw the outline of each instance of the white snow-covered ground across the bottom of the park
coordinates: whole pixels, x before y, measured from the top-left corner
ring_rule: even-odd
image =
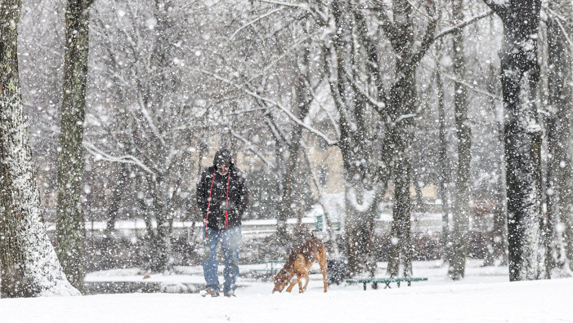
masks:
[[[386,264],[379,265],[382,275]],[[180,281],[200,279],[200,268],[186,270]],[[434,262],[414,263],[414,276],[428,282],[399,289],[334,285],[323,293],[315,274],[304,294],[271,294],[272,282],[243,278],[231,299],[198,293],[2,299],[0,322],[573,322],[573,278],[508,282],[506,267],[480,267],[478,260],[469,262],[460,282],[447,280],[446,270]],[[91,274],[88,280],[97,276],[143,279],[126,269]],[[174,282],[177,276],[148,279]]]

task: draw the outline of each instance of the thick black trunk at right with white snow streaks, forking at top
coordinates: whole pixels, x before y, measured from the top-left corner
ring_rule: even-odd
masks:
[[[546,278],[541,211],[541,126],[537,106],[540,0],[498,4],[504,23],[502,88],[506,159],[509,279]]]

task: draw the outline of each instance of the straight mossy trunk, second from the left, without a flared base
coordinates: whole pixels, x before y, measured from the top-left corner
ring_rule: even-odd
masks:
[[[73,287],[84,290],[82,175],[91,0],[69,0],[66,10],[64,97],[58,153],[56,252]]]

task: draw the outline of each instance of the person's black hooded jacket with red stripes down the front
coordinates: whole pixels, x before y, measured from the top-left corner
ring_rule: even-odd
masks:
[[[231,166],[225,175],[217,171],[218,164],[230,163]],[[229,206],[226,206],[227,180],[229,180]],[[211,190],[213,183],[213,190]],[[229,227],[241,225],[241,218],[248,204],[248,192],[245,179],[239,168],[235,167],[231,153],[221,149],[215,154],[213,166],[202,172],[197,184],[197,206],[207,221],[207,226],[213,230],[224,230],[225,210],[229,211]],[[209,193],[211,192],[211,203]],[[207,219],[209,208],[209,219]]]

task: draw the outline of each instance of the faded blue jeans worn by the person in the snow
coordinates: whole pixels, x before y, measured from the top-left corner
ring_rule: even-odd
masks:
[[[204,227],[203,227],[204,230]],[[219,291],[219,278],[217,276],[217,245],[221,241],[225,269],[223,276],[223,293],[235,291],[237,277],[239,276],[239,247],[241,246],[241,227],[229,227],[226,230],[207,229],[203,236],[203,275],[207,286],[205,288]]]

